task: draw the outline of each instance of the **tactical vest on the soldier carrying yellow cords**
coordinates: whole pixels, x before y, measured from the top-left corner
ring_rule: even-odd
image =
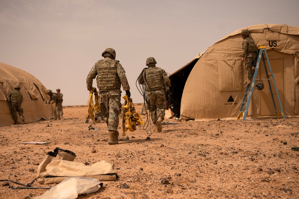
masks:
[[[116,71],[115,59],[103,59],[97,65],[97,86],[99,90],[113,90],[121,87],[120,78]]]

